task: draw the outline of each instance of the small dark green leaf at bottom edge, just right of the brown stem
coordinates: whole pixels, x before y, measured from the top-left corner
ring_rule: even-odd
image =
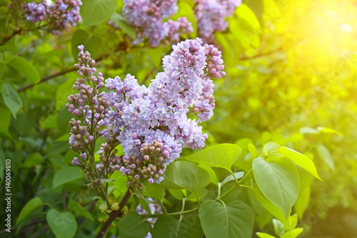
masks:
[[[141,238],[148,233],[148,225],[136,212],[127,213],[119,222],[119,237]]]

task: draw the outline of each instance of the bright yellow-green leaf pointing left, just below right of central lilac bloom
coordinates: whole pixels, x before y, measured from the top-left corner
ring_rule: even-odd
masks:
[[[220,167],[231,172],[231,167],[241,154],[241,147],[236,144],[218,144],[207,149],[192,154],[186,159],[198,164],[205,164],[211,167]]]

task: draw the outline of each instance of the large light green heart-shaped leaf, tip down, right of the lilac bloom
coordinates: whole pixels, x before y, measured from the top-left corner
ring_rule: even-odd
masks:
[[[270,162],[253,160],[253,175],[261,192],[279,207],[286,218],[300,191],[300,180],[295,165],[284,157]]]

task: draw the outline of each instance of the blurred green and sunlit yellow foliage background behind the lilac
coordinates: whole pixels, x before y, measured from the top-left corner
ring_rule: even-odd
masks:
[[[178,2],[173,19],[188,16],[195,26],[196,19],[188,11],[192,1]],[[106,78],[133,74],[146,85],[162,70],[161,58],[171,46],[131,46],[135,32],[119,16],[120,0],[86,1],[81,9],[83,24],[61,36],[26,31],[26,24],[11,25],[7,4],[0,1],[1,39],[16,27],[22,29],[0,46],[1,194],[5,159],[11,158],[13,227],[18,220],[14,233],[53,236],[46,216],[65,216],[65,210],[72,214],[75,210],[76,237],[94,236],[100,226],[96,219],[105,217],[91,202],[94,195],[84,187],[80,169],[70,166],[76,153],[69,150],[72,116],[64,107],[66,97],[74,93],[76,46],[84,44]],[[91,14],[93,6],[102,7],[106,14]],[[122,31],[107,31],[110,16]],[[209,136],[207,147],[240,146],[243,152],[234,166],[244,172],[254,159],[250,143],[259,153],[263,144],[276,142],[311,158],[323,182],[308,175],[300,181],[293,208],[298,226],[304,228],[300,237],[357,236],[356,18],[355,1],[246,0],[228,19],[228,29],[215,34],[227,75],[214,81],[215,114],[203,124]],[[196,31],[187,37],[196,37]],[[182,157],[192,153],[185,150]],[[218,181],[228,175],[215,172]],[[245,201],[251,195],[232,196]],[[164,203],[177,211],[181,204],[174,197],[174,192],[166,192]],[[19,217],[30,200],[28,213]],[[5,207],[4,199],[0,204]],[[62,205],[61,215],[51,209]],[[273,234],[273,216],[255,208],[253,234]],[[1,219],[2,214],[3,209]],[[26,226],[34,219],[39,222]]]

